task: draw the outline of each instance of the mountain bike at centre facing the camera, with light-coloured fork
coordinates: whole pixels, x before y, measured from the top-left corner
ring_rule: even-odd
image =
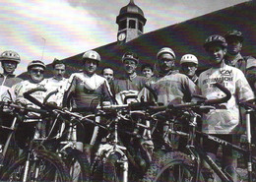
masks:
[[[95,154],[92,165],[93,180],[126,182],[131,177],[131,167],[138,165],[137,167],[140,168],[131,150],[127,149],[120,140],[120,134],[124,134],[127,137],[130,136],[132,138],[131,145],[138,143],[138,139],[149,140],[150,138],[147,132],[150,127],[140,120],[146,116],[146,110],[143,109],[141,103],[138,103],[137,108],[135,108],[136,104],[105,105],[97,108],[96,115],[107,116],[108,118],[108,122],[106,122],[108,123],[108,135],[105,142],[99,144]],[[122,122],[133,123],[134,130],[123,129]],[[130,148],[134,148],[131,145]],[[141,147],[136,150],[136,153],[143,152]],[[150,159],[148,158],[148,160]],[[142,167],[140,170],[142,172]]]

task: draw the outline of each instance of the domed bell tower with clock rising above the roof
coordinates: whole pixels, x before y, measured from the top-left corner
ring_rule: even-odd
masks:
[[[142,9],[134,3],[134,0],[130,0],[116,17],[118,44],[124,44],[143,34],[146,22]]]

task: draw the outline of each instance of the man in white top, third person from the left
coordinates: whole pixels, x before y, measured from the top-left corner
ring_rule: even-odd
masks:
[[[54,59],[52,62],[53,74],[54,76],[50,79],[46,79],[47,82],[47,92],[58,91],[57,93],[50,96],[48,101],[53,101],[57,103],[57,106],[62,105],[63,94],[65,91],[65,86],[68,80],[64,78],[66,72],[66,65],[62,60]]]

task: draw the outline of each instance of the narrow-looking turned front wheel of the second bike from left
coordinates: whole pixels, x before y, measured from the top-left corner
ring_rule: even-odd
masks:
[[[86,154],[71,148],[68,148],[66,152],[65,164],[69,168],[71,181],[90,181],[90,164]]]

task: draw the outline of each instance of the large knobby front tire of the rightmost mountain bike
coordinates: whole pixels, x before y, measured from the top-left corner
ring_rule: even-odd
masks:
[[[195,181],[193,179],[195,172],[193,161],[187,154],[183,152],[160,152],[155,153],[153,162],[142,181]],[[197,181],[204,181],[201,173]]]

